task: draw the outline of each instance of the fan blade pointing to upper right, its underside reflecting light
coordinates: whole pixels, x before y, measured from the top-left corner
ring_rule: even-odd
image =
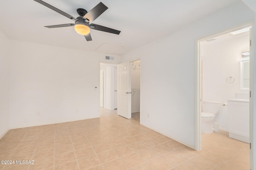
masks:
[[[108,7],[106,7],[102,2],[92,8],[87,14],[84,15],[83,19],[86,18],[89,20],[89,23],[92,23],[98,16],[100,16],[104,11],[106,11]]]

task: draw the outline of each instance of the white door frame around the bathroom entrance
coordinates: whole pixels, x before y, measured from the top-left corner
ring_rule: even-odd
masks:
[[[196,59],[195,59],[195,150],[201,150],[202,149],[202,138],[201,138],[201,102],[200,102],[200,96],[201,96],[201,62],[200,62],[200,41],[204,41],[206,39],[210,39],[212,37],[216,37],[218,35],[222,35],[225,33],[230,33],[232,31],[236,31],[245,27],[252,27],[252,30],[250,31],[250,34],[254,34],[254,24],[250,23],[247,25],[242,25],[240,27],[236,27],[235,29],[230,29],[228,31],[222,31],[220,33],[216,33],[214,35],[210,35],[207,37],[203,37],[196,40]],[[254,42],[254,35],[251,35],[251,40]],[[253,43],[252,43],[253,44]],[[256,61],[254,61],[254,46],[250,46],[250,92],[252,92],[252,97],[250,98],[250,143],[254,144],[256,141],[254,140],[254,118],[256,118],[256,112],[254,111],[254,65],[256,65]],[[256,148],[255,148],[256,149]],[[252,149],[250,149],[250,168],[254,168],[254,155],[256,152],[254,152],[254,147],[252,145]]]

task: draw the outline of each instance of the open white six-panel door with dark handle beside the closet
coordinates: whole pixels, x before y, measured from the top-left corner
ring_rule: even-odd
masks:
[[[117,65],[117,114],[131,118],[131,74],[130,62]]]

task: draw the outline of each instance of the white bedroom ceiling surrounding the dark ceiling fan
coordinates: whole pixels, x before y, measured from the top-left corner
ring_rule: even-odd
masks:
[[[90,11],[95,0],[44,0],[77,17],[77,8]],[[74,23],[34,0],[1,0],[0,30],[9,38],[72,49],[96,51],[100,45],[118,46],[109,53],[122,55],[163,37],[239,0],[101,0],[108,7],[93,23],[121,31],[120,35],[91,30],[86,41],[74,27],[46,28],[46,25]],[[122,47],[122,48],[120,48]]]

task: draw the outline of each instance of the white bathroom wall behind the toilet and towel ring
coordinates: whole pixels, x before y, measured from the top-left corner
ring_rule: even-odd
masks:
[[[249,51],[249,32],[214,37],[215,41],[202,41],[200,45],[203,61],[203,100],[215,100],[227,103],[235,98],[240,90],[240,60],[242,52]],[[233,76],[233,83],[226,78]],[[214,121],[220,123],[220,129],[228,131],[228,106],[222,106]]]

